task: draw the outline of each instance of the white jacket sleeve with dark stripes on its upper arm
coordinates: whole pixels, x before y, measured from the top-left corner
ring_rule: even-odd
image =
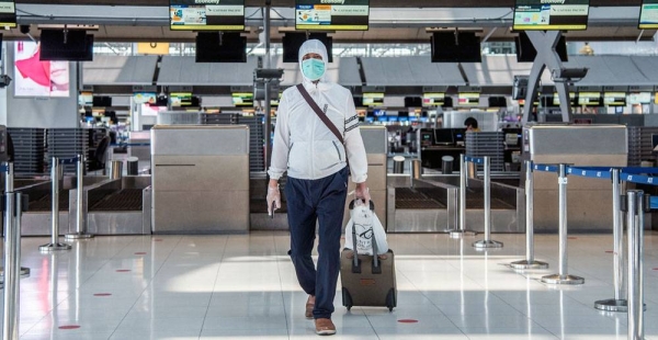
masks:
[[[359,116],[352,95],[348,95],[345,103],[344,140],[352,182],[362,183],[367,179],[367,157],[361,131],[359,129]]]

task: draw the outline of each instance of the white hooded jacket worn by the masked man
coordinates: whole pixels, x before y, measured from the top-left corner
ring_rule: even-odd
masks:
[[[302,57],[309,53],[321,55],[325,69],[328,69],[327,48],[321,42],[310,39],[299,48],[299,70]],[[303,84],[342,133],[344,146],[310,109],[299,90],[291,87],[283,91],[279,103],[272,161],[268,171],[270,178],[279,180],[287,171],[295,179],[317,180],[338,172],[349,159],[352,181],[365,182],[367,159],[352,93],[337,83],[325,81],[325,77],[315,84],[304,76]]]

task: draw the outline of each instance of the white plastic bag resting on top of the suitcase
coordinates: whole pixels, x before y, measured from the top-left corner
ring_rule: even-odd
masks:
[[[377,243],[377,254],[388,252],[386,231],[382,222],[375,215],[374,209],[364,205],[361,200],[354,200],[350,204],[350,220],[345,225],[345,248],[354,248],[352,230],[356,234],[356,253],[373,254],[373,238]]]

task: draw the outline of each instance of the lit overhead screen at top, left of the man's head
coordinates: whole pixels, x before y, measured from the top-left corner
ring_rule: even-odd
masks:
[[[242,31],[245,0],[169,0],[169,22],[177,31]]]

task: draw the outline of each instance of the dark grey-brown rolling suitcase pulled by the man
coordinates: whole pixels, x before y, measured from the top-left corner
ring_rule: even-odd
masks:
[[[350,203],[350,209],[354,201]],[[370,208],[375,209],[371,201]],[[340,254],[340,275],[342,284],[343,306],[350,310],[352,306],[388,307],[397,306],[397,288],[395,282],[395,254],[388,250],[386,259],[377,256],[356,253],[356,228],[352,228],[352,248],[343,249]],[[377,253],[377,245],[373,237],[373,253]],[[354,254],[350,257],[350,254]]]

